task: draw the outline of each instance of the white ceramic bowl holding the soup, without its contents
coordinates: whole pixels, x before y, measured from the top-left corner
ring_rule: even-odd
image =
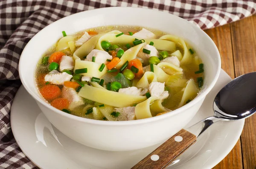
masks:
[[[61,32],[73,34],[83,29],[108,25],[134,25],[159,29],[182,37],[204,63],[205,80],[199,95],[181,108],[142,120],[100,121],[62,112],[50,106],[35,86],[35,68],[42,54],[61,38]],[[20,79],[47,119],[77,142],[96,149],[128,151],[160,143],[180,129],[196,114],[205,96],[215,85],[221,59],[211,38],[201,29],[175,15],[142,8],[111,7],[83,11],[64,17],[38,32],[24,48],[19,63]]]

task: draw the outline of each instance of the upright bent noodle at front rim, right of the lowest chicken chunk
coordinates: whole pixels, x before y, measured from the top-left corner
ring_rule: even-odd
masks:
[[[144,119],[152,117],[151,111],[150,111],[150,105],[151,103],[156,100],[157,97],[151,96],[147,100],[139,103],[135,107],[135,115],[137,119]]]

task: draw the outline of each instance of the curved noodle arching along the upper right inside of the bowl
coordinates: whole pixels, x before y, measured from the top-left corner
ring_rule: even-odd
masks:
[[[192,60],[192,55],[189,53],[189,50],[188,48],[186,47],[186,43],[184,42],[183,39],[181,39],[180,37],[177,37],[177,36],[174,36],[172,34],[166,34],[166,35],[163,35],[162,37],[160,37],[159,39],[163,39],[163,40],[170,40],[172,42],[175,42],[175,43],[180,43],[181,46],[183,47],[184,49],[184,54],[183,54],[183,58],[182,60],[180,61],[180,63],[191,63],[191,60]]]

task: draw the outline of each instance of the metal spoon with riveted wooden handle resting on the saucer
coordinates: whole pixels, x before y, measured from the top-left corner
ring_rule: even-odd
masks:
[[[241,75],[224,86],[214,99],[213,109],[213,116],[180,130],[132,169],[165,169],[213,123],[253,115],[256,112],[256,72]]]

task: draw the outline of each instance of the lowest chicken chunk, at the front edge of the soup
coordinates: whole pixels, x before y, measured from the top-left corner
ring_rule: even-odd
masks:
[[[121,120],[136,120],[135,106],[115,108],[114,111],[120,113],[118,118]]]

